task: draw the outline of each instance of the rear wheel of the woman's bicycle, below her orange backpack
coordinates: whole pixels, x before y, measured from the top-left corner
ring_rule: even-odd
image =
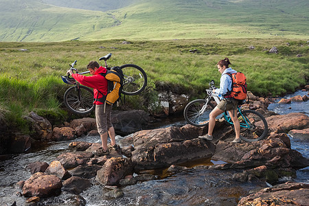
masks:
[[[259,141],[266,137],[268,125],[266,119],[253,110],[242,111],[238,114],[240,122],[240,139],[244,141]]]

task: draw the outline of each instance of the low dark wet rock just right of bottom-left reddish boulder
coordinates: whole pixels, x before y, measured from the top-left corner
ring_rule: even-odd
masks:
[[[80,194],[82,191],[91,187],[91,185],[92,184],[88,179],[79,176],[72,176],[63,182],[62,190],[72,194]]]

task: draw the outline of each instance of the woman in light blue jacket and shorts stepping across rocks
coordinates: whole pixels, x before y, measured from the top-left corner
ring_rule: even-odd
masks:
[[[231,117],[236,137],[232,141],[232,143],[240,143],[240,123],[237,117],[237,106],[238,106],[238,100],[235,100],[233,98],[229,98],[229,91],[231,91],[232,88],[232,80],[231,77],[227,73],[236,73],[237,71],[231,69],[229,67],[231,65],[231,62],[229,62],[228,58],[225,58],[224,60],[220,60],[217,64],[218,71],[221,73],[220,78],[220,88],[214,89],[213,92],[218,94],[220,98],[220,103],[214,108],[213,111],[209,114],[209,124],[208,124],[208,133],[205,136],[200,136],[200,138],[207,139],[211,141],[213,139],[212,133],[214,131],[214,126],[216,124],[216,117],[220,114],[222,114],[225,110],[229,112],[229,116]]]

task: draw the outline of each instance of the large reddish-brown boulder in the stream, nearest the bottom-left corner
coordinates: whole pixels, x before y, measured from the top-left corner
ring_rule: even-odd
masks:
[[[57,176],[37,172],[25,181],[23,196],[47,198],[60,194],[61,187],[61,180]]]

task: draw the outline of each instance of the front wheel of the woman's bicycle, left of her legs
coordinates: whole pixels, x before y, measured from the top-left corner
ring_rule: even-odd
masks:
[[[205,126],[209,120],[209,113],[214,109],[210,102],[205,104],[206,100],[198,99],[189,102],[185,106],[183,116],[185,120],[193,126]]]

